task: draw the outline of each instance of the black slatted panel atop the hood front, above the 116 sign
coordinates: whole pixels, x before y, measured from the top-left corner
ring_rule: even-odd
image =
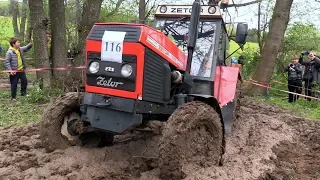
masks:
[[[141,28],[126,25],[96,25],[88,35],[88,40],[101,41],[104,31],[121,31],[126,32],[124,41],[138,42],[141,34]]]

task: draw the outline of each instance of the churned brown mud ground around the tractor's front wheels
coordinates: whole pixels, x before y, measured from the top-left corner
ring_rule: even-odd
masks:
[[[224,164],[186,179],[320,179],[320,123],[242,99]],[[113,147],[45,153],[38,123],[0,129],[0,179],[158,179],[159,136],[129,134]]]

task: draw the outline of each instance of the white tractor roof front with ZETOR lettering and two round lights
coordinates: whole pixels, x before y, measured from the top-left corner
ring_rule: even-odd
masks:
[[[185,17],[191,16],[192,5],[159,5],[155,17]],[[222,19],[219,6],[202,5],[200,18]]]

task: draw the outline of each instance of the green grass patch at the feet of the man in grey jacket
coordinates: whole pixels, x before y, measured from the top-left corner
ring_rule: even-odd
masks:
[[[19,126],[40,120],[41,107],[29,103],[26,98],[18,97],[16,102],[11,102],[10,92],[0,91],[0,127]]]

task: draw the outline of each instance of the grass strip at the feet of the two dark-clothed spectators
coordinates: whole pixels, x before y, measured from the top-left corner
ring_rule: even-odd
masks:
[[[299,99],[296,103],[289,103],[285,97],[272,96],[268,99],[262,97],[255,97],[254,100],[276,105],[280,109],[285,109],[295,115],[319,120],[320,117],[320,103],[312,100],[306,101],[304,98]]]

